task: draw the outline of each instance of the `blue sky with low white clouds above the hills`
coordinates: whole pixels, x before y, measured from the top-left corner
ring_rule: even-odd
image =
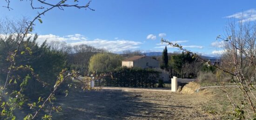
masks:
[[[0,6],[4,5],[2,1]],[[95,11],[54,9],[42,17],[42,24],[36,23],[34,32],[40,35],[39,42],[89,44],[116,53],[162,51],[160,40],[166,38],[188,50],[214,56],[216,36],[224,34],[228,19],[236,19],[239,12],[256,15],[255,5],[256,0],[92,0],[90,7]],[[37,13],[26,0],[12,0],[10,6],[11,11],[0,7],[1,18],[32,19]],[[173,51],[177,49],[168,48]]]

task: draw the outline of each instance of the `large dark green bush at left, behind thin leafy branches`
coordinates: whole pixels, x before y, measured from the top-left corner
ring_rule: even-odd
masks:
[[[15,80],[17,84],[14,84],[12,87],[7,86],[8,89],[19,89],[22,78],[29,75],[30,79],[28,79],[25,92],[37,94],[38,92],[43,93],[44,90],[49,91],[52,87],[47,86],[54,86],[59,72],[65,68],[67,54],[61,51],[51,51],[46,42],[38,45],[36,43],[37,37],[35,35],[34,38],[28,38],[20,44],[20,50],[17,52],[15,65],[10,75],[13,78],[12,82]],[[0,40],[0,70],[3,71],[0,71],[0,84],[5,83],[8,67],[10,67],[10,62],[6,60],[9,56],[8,51],[15,51],[15,45],[13,38],[8,38],[6,41]],[[20,66],[25,68],[26,65],[28,67],[31,66],[34,75],[31,74],[29,69],[16,69]],[[43,87],[42,82],[47,83],[47,85]]]

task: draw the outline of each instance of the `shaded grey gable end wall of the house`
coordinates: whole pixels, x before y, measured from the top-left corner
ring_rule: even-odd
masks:
[[[143,57],[141,59],[137,59],[133,62],[134,67],[141,67],[141,68],[159,68],[159,61],[152,59],[150,57]]]

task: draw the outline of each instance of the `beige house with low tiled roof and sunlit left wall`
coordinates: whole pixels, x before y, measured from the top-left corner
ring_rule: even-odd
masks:
[[[122,61],[122,66],[159,68],[159,61],[148,56],[134,56]]]

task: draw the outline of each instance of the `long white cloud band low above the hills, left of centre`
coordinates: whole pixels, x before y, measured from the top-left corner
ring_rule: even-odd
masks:
[[[34,35],[31,35],[31,36],[34,36]],[[139,45],[142,44],[141,42],[136,42],[132,40],[124,40],[124,39],[118,39],[118,38],[114,38],[114,39],[115,40],[100,39],[100,38],[88,39],[81,34],[67,35],[63,37],[53,35],[53,34],[47,34],[47,35],[39,35],[37,42],[39,44],[42,44],[45,40],[47,40],[47,42],[61,41],[61,42],[66,42],[67,44],[70,44],[72,46],[79,45],[79,44],[88,44],[96,48],[103,48],[112,52],[121,52],[129,49],[137,49],[137,48],[140,48]]]

